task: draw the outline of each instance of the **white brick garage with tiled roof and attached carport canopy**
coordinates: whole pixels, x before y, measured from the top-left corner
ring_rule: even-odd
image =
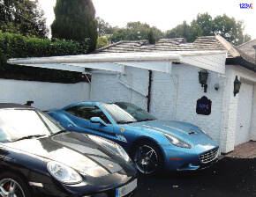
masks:
[[[89,99],[132,102],[159,119],[191,122],[228,153],[238,144],[256,141],[256,59],[242,49],[220,36],[193,43],[160,40],[154,45],[147,40],[121,41],[91,55],[9,62],[90,74]],[[207,92],[199,80],[203,69],[208,72]],[[242,84],[235,96],[236,77]],[[207,113],[200,114],[200,107]]]

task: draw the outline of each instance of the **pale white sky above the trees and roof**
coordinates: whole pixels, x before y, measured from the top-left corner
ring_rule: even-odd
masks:
[[[236,20],[245,21],[245,32],[256,39],[256,0],[92,0],[96,17],[110,26],[126,26],[127,22],[142,22],[162,32],[182,24],[190,24],[198,13],[208,12],[212,18],[224,13]],[[255,3],[254,3],[255,1]],[[40,0],[47,25],[55,18],[56,0]],[[252,4],[252,9],[241,9],[240,4]]]

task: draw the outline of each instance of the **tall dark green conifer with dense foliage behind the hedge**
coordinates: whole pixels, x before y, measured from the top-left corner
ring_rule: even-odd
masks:
[[[53,38],[76,40],[88,52],[94,51],[98,24],[91,0],[56,0],[54,12],[56,18],[51,25]]]

